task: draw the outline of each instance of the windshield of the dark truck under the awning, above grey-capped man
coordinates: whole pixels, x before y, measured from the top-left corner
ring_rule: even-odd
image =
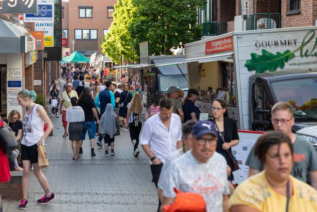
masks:
[[[187,74],[184,74],[187,77]],[[167,92],[170,86],[175,86],[182,90],[188,90],[188,83],[183,75],[160,75],[159,87],[161,91]]]

